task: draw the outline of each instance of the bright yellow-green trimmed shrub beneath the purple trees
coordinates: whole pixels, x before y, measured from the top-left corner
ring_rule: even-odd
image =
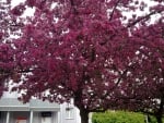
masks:
[[[92,123],[145,123],[145,115],[128,111],[107,111],[104,113],[93,113]],[[151,118],[151,123],[156,123]]]

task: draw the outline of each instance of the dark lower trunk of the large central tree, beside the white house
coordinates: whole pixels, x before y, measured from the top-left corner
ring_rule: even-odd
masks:
[[[89,111],[80,109],[81,123],[89,123]]]

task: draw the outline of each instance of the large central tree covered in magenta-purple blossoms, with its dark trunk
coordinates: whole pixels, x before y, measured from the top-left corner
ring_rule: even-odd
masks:
[[[122,98],[131,98],[131,87],[140,95],[138,76],[152,66],[140,56],[142,49],[153,52],[149,47],[154,47],[153,39],[159,36],[160,30],[153,29],[160,25],[150,22],[152,16],[159,15],[163,25],[163,1],[154,1],[149,13],[144,2],[133,0],[26,0],[15,7],[12,19],[26,8],[34,8],[35,13],[20,27],[20,38],[10,46],[2,44],[9,47],[2,56],[11,59],[1,67],[11,70],[12,74],[5,73],[21,82],[13,90],[24,90],[24,102],[32,96],[60,103],[73,98],[82,123],[87,123],[90,112],[118,108],[118,102],[124,106]],[[137,10],[144,14],[126,13]],[[156,47],[162,47],[163,38],[157,40]],[[128,86],[130,83],[136,86]]]

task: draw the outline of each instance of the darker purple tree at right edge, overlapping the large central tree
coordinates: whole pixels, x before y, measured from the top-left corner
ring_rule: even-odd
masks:
[[[163,71],[163,22],[140,27],[133,32],[133,39],[142,40],[136,52],[136,67],[129,71],[124,91],[125,109],[143,112],[162,123],[164,113],[164,71]],[[132,82],[132,83],[131,83]]]

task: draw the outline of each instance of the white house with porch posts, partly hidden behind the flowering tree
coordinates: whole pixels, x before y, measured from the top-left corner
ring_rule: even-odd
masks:
[[[80,123],[79,110],[69,103],[38,99],[22,103],[9,93],[0,99],[0,123]]]

